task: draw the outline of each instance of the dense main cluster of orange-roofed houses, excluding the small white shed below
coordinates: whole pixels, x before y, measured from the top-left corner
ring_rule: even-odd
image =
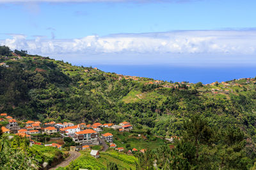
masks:
[[[95,124],[77,124],[74,125],[70,122],[56,123],[56,122],[47,122],[42,124],[39,121],[34,122],[33,120],[28,120],[27,122],[22,122],[24,127],[20,127],[17,123],[17,120],[8,116],[6,113],[1,113],[0,122],[7,121],[6,127],[1,127],[3,133],[13,133],[20,137],[31,137],[31,134],[45,133],[45,134],[54,134],[60,132],[63,137],[71,137],[76,143],[83,145],[83,150],[90,148],[89,145],[99,145],[99,132],[102,131],[103,127],[108,127],[116,129],[117,131],[124,132],[130,131],[132,125],[129,122],[122,122],[119,125],[115,124],[100,124],[99,122]],[[23,126],[23,125],[22,125]],[[104,141],[110,143],[111,148],[116,148],[116,145],[113,143],[113,134],[105,133],[101,135],[101,138]],[[42,145],[42,143],[35,143],[31,140],[31,143],[35,145]],[[45,145],[50,146],[50,145]],[[51,146],[61,148],[58,144],[52,144]],[[116,148],[118,151],[124,150],[124,148]]]

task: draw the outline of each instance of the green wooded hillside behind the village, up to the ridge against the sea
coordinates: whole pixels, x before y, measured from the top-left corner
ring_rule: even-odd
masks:
[[[168,137],[180,134],[184,118],[202,113],[211,125],[236,124],[253,141],[256,137],[254,79],[168,83],[37,55],[15,58],[1,57],[10,67],[0,67],[0,111],[13,117],[41,122],[129,120]]]

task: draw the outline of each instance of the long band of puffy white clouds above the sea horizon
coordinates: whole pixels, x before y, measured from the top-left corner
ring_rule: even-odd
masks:
[[[11,34],[0,45],[38,54],[221,54],[255,55],[256,31],[171,31],[141,34],[86,36],[79,39],[47,39]]]

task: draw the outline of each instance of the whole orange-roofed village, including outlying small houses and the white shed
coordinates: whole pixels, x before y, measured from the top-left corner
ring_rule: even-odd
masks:
[[[118,125],[115,124],[100,124],[96,122],[94,124],[73,124],[71,122],[47,122],[42,124],[39,121],[28,120],[27,122],[19,122],[15,118],[10,117],[7,113],[1,113],[0,122],[8,122],[6,126],[1,127],[1,131],[6,134],[15,134],[20,138],[29,138],[31,145],[44,145],[56,147],[59,150],[62,149],[62,145],[58,143],[43,144],[36,141],[33,134],[60,134],[61,138],[69,137],[75,142],[75,146],[70,146],[70,152],[80,150],[91,150],[90,155],[95,158],[99,157],[99,150],[92,150],[92,146],[102,145],[103,151],[108,148],[113,148],[118,152],[124,152],[124,147],[118,147],[114,143],[113,134],[106,132],[102,133],[103,128],[113,129],[117,132],[129,132],[132,129],[132,125],[129,122],[121,122]],[[18,124],[19,123],[19,124]],[[138,152],[136,148],[128,150],[128,154]],[[145,153],[146,149],[141,149],[141,153]]]

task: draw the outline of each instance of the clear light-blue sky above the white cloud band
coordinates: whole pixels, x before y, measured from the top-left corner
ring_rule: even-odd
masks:
[[[21,1],[21,0],[20,0]],[[26,1],[26,0],[25,0]],[[170,2],[170,1],[167,1]],[[51,38],[97,34],[255,28],[256,1],[0,3],[6,33]]]

